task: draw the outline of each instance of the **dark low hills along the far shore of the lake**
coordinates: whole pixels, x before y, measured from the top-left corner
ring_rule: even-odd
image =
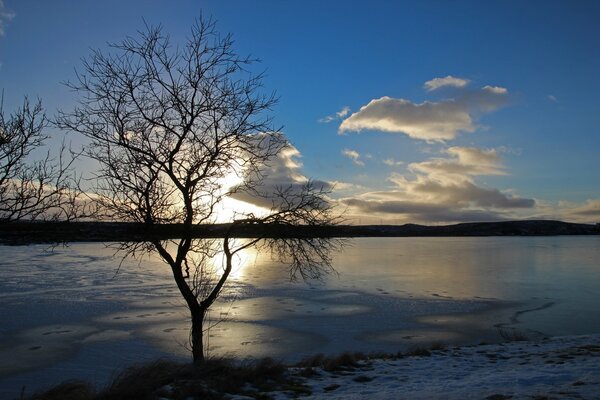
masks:
[[[196,225],[198,238],[224,237],[229,224]],[[180,237],[181,225],[125,222],[14,222],[0,224],[0,243],[30,244],[57,242],[145,241]],[[574,224],[562,221],[473,222],[455,225],[338,225],[285,226],[250,225],[236,228],[231,236],[250,237],[408,237],[408,236],[553,236],[600,235],[600,224]]]

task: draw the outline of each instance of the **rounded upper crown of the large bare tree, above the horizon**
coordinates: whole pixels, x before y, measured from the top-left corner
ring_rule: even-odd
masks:
[[[161,27],[95,51],[78,81],[80,107],[59,125],[91,139],[97,187],[111,217],[201,223],[222,199],[222,178],[257,170],[284,142],[263,117],[275,103],[244,79],[253,60],[232,51],[212,21],[194,25],[182,48]],[[268,133],[268,134],[267,134]]]

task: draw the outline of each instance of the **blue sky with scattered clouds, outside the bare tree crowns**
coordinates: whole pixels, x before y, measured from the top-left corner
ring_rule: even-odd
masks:
[[[0,0],[5,108],[69,108],[90,48],[144,19],[183,42],[201,12],[355,221],[600,220],[597,1]]]

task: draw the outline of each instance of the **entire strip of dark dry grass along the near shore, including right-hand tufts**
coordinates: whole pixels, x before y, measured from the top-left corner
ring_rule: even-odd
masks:
[[[269,392],[276,390],[300,396],[310,394],[302,378],[319,375],[319,370],[344,373],[368,367],[369,360],[426,357],[432,351],[443,349],[441,345],[432,345],[396,354],[345,352],[335,357],[317,354],[296,364],[295,367],[300,371],[295,376],[288,372],[288,366],[271,358],[242,362],[211,359],[201,365],[159,360],[123,370],[105,388],[96,389],[82,381],[66,381],[30,397],[23,397],[22,400],[155,400],[161,397],[212,400],[222,399],[225,394],[268,399]],[[357,379],[367,382],[371,378],[365,376]]]

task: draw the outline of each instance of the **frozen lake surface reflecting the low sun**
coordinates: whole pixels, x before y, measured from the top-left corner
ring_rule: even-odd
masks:
[[[157,357],[186,359],[187,309],[168,267],[102,244],[0,247],[0,397]],[[338,274],[290,282],[247,252],[208,332],[209,355],[294,361],[433,342],[600,333],[600,237],[362,238]],[[35,384],[34,384],[35,382]]]

